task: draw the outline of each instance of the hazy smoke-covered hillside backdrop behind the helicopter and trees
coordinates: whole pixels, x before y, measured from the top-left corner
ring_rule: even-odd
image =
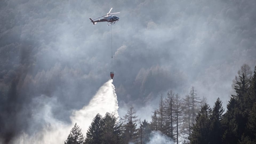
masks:
[[[33,115],[45,103],[71,123],[110,79],[111,26],[89,17],[111,7],[121,12],[112,26],[119,116],[133,104],[150,121],[161,93],[184,97],[191,86],[226,107],[237,71],[256,65],[254,0],[1,1],[0,136],[44,127]]]

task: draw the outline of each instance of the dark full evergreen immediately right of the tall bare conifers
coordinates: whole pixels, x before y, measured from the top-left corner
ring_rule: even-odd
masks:
[[[195,124],[193,125],[192,132],[189,135],[189,140],[191,144],[205,144],[210,141],[210,113],[210,107],[208,104],[205,103],[205,105],[201,107],[201,110],[196,116]]]

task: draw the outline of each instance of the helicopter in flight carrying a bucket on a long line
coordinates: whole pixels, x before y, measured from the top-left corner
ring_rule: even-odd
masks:
[[[113,9],[113,7],[110,9],[110,11],[111,11],[112,9]],[[111,14],[110,14],[110,11],[109,11],[107,14],[101,16],[101,17],[103,17],[103,19],[99,19],[99,20],[97,20],[97,21],[93,21],[94,19],[97,19],[97,18],[94,18],[94,19],[89,18],[89,19],[91,20],[91,22],[93,23],[93,25],[95,25],[97,22],[107,22],[107,25],[108,25],[108,26],[114,25],[115,22],[119,21],[119,17],[117,17],[117,16],[115,16],[115,15],[111,15],[111,14],[118,14],[118,13],[120,13],[120,12],[118,12],[118,13],[111,13]],[[106,16],[106,17],[104,17],[104,16]],[[98,18],[101,18],[101,17],[98,17]]]

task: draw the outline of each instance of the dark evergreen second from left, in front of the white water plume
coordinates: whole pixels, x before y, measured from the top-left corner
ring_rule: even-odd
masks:
[[[86,133],[85,143],[102,143],[103,127],[102,127],[102,116],[97,114],[93,118],[93,122],[89,126]]]

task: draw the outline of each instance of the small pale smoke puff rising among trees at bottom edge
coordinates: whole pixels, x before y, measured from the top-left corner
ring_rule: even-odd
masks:
[[[160,131],[152,131],[150,136],[151,137],[149,138],[149,142],[147,144],[154,144],[154,143],[174,144],[174,141],[171,138],[162,134]]]

